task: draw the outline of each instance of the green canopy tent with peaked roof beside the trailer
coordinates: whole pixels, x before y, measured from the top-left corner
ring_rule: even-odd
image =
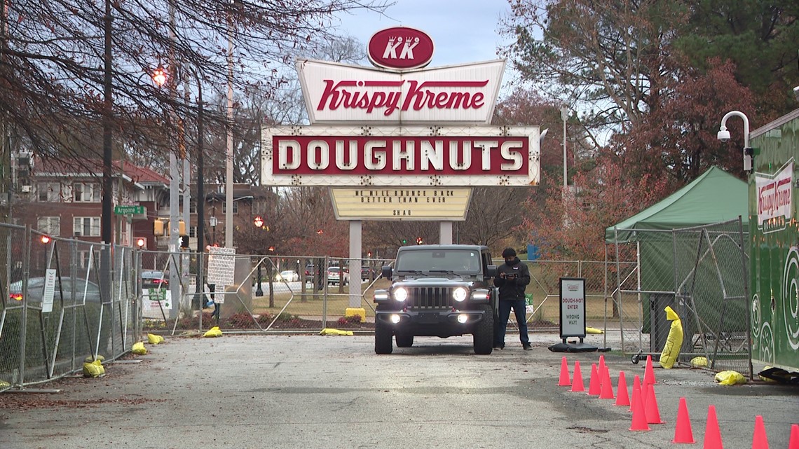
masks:
[[[666,199],[605,229],[607,244],[638,245],[640,284],[636,288],[642,298],[642,332],[651,328],[652,334],[657,334],[650,336],[653,351],[662,349],[668,333],[670,323],[662,310],[665,305],[678,312],[688,334],[705,326],[720,326],[725,331],[746,328],[745,301],[722,302],[743,292],[745,267],[739,230],[749,229],[748,194],[744,181],[711,167]],[[678,292],[676,300],[674,292]],[[678,307],[685,304],[696,305],[690,311]],[[733,311],[728,305],[741,310]],[[658,320],[662,320],[661,326]],[[664,326],[666,335],[660,335]],[[685,341],[683,352],[688,343]]]

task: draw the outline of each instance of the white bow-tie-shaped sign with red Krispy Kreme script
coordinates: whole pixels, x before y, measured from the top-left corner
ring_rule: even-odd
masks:
[[[488,124],[505,61],[389,72],[300,60],[311,123]]]

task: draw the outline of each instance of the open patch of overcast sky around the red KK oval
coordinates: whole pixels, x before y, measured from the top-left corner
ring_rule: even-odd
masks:
[[[497,29],[507,13],[507,0],[396,0],[382,16],[371,11],[342,14],[340,29],[364,46],[372,34],[391,26],[422,30],[435,45],[430,66],[449,66],[499,58]]]

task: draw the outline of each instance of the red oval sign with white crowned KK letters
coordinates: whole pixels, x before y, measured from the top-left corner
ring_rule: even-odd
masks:
[[[395,26],[372,36],[368,54],[369,61],[378,67],[418,69],[427,66],[433,58],[433,40],[423,31]]]

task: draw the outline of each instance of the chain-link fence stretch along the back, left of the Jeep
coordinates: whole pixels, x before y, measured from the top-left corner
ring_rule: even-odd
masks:
[[[194,255],[183,257],[195,259]],[[201,260],[202,255],[197,257]],[[142,290],[145,331],[202,332],[218,326],[229,332],[320,332],[328,327],[371,332],[372,292],[389,284],[380,275],[380,268],[391,260],[255,255],[230,258],[234,260],[233,282],[226,285],[200,281],[196,270],[203,266],[202,261],[189,262],[189,271],[182,277],[185,281],[181,281],[181,300],[168,304],[167,309],[163,303],[169,303],[165,299],[172,297],[166,296],[170,289],[169,253],[142,252],[145,266],[157,267],[143,269],[143,276],[159,278],[149,283],[152,288]],[[178,256],[178,272],[182,267],[180,259]],[[213,270],[207,264],[205,269]],[[207,279],[207,275],[204,273],[202,278]],[[203,285],[201,290],[196,287],[198,282]],[[173,312],[176,307],[179,313]]]

